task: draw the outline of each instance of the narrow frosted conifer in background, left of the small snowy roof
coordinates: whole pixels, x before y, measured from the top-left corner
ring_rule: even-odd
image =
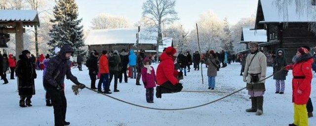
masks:
[[[223,49],[227,52],[233,54],[234,53],[234,46],[233,46],[233,38],[232,38],[232,30],[229,27],[229,23],[227,18],[224,19],[224,36],[222,38]]]

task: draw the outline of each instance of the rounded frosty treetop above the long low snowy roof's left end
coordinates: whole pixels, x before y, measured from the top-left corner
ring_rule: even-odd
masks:
[[[121,16],[102,13],[91,21],[91,29],[115,29],[129,27],[129,21]]]

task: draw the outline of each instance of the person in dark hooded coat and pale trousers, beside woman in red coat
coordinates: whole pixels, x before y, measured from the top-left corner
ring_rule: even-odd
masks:
[[[285,67],[286,59],[285,59],[285,52],[283,49],[277,49],[276,58],[273,62],[273,73],[281,70]],[[284,94],[285,89],[285,79],[287,75],[287,70],[282,70],[281,72],[275,73],[273,79],[276,80],[276,94]],[[281,87],[280,87],[281,86]]]

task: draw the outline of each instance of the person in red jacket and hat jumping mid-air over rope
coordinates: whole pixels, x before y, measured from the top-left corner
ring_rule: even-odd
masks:
[[[178,71],[174,70],[174,61],[176,60],[176,49],[166,48],[160,56],[160,63],[157,67],[156,97],[161,98],[161,94],[181,92],[183,86],[176,78]]]

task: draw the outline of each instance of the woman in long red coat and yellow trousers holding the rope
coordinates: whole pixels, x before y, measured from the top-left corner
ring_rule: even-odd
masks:
[[[299,48],[293,58],[293,65],[285,66],[292,69],[292,102],[294,102],[294,123],[289,126],[308,126],[306,104],[311,95],[313,55],[306,48]]]

